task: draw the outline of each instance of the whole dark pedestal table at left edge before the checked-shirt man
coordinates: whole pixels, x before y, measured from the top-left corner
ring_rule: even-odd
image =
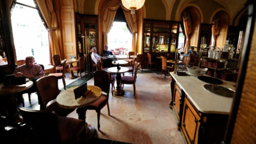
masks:
[[[33,86],[32,81],[27,81],[21,85],[6,85],[0,90],[0,105],[8,112],[7,122],[9,125],[16,125],[22,122],[16,107],[16,93],[27,90]]]

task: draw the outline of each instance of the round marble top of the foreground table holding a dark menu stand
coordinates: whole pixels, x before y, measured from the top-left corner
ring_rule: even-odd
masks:
[[[81,108],[92,104],[102,95],[102,90],[99,87],[87,85],[87,92],[91,91],[88,93],[85,92],[85,96],[76,99],[74,89],[77,87],[79,86],[75,86],[61,92],[56,98],[57,103],[64,108]]]

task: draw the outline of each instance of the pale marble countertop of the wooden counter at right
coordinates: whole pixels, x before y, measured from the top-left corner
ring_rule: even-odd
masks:
[[[200,112],[217,114],[229,114],[231,112],[233,98],[219,96],[206,90],[204,85],[209,83],[199,80],[196,76],[178,76],[173,72],[170,72],[170,75],[174,78],[178,86],[184,90],[189,100]],[[234,85],[236,85],[236,83],[222,81],[221,86],[235,90]]]

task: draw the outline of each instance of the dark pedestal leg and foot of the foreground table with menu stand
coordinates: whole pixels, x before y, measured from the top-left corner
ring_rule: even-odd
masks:
[[[76,109],[76,113],[78,114],[78,119],[85,120],[85,118],[86,118],[86,110],[84,108],[77,108]],[[95,127],[92,126],[92,125],[88,126],[88,124],[86,122],[86,133],[85,133],[84,140],[90,140],[91,138],[93,138],[95,136],[95,134],[96,134]]]

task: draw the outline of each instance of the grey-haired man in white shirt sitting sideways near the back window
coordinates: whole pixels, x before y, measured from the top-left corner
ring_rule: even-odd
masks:
[[[97,54],[96,47],[93,47],[91,51],[92,51],[92,61],[93,61],[94,63],[99,62],[99,61],[100,61],[100,58],[101,58],[102,56],[100,56],[100,55]],[[104,64],[103,68],[110,68],[110,67],[113,67],[112,60],[111,60],[110,58],[102,57],[102,59],[103,59],[103,64]]]

